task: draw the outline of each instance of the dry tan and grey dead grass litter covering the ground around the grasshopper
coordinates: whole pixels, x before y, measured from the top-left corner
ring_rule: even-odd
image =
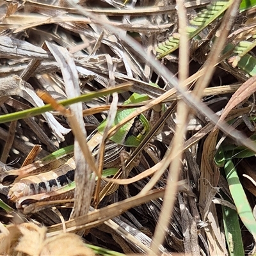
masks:
[[[188,1],[184,6],[189,17],[211,3]],[[181,14],[175,8],[175,1],[163,4],[151,1],[78,1],[78,5],[65,1],[48,1],[47,4],[40,1],[1,1],[0,4],[1,115],[44,106],[36,94],[38,89],[48,92],[58,101],[81,93],[115,88],[125,82],[132,84],[130,92],[120,92],[118,96],[101,95],[72,104],[65,108],[65,113],[60,111],[61,105],[57,105],[57,109],[42,115],[20,116],[19,120],[1,124],[0,202],[8,205],[3,209],[12,209],[0,211],[1,254],[107,255],[109,252],[103,249],[106,248],[116,255],[228,255],[232,246],[226,246],[221,204],[225,207],[232,204],[232,209],[238,205],[234,207],[236,200],[227,199],[230,198],[228,182],[225,173],[215,164],[215,154],[220,144],[225,148],[233,147],[227,150],[231,153],[241,147],[241,143],[255,148],[252,141],[243,140],[253,140],[255,90],[253,68],[241,67],[240,57],[236,57],[238,64],[232,65],[230,60],[235,58],[232,52],[227,56],[221,50],[227,46],[226,43],[253,40],[255,20],[250,17],[252,14],[249,12],[246,16],[246,12],[242,12],[234,15],[238,7],[230,4],[226,16],[216,19],[204,29],[205,40],[211,41],[208,47],[204,47],[204,38],[198,37],[197,41],[189,42],[189,63],[187,61],[188,65],[182,66],[184,72],[189,70],[189,77],[186,77],[186,72],[179,71],[182,90],[185,86],[192,91],[195,88],[194,92],[187,93],[175,87],[179,86],[175,78],[177,74],[166,79],[161,74],[164,68],[157,70],[150,58],[143,61],[143,56],[136,53],[139,48],[131,47],[129,39],[124,40],[125,35],[130,35],[143,46],[141,53],[145,51],[148,56],[156,56],[157,45],[170,33],[176,33],[173,38],[180,39],[179,51],[182,51],[182,45],[186,45],[182,40],[186,41],[186,38],[182,39],[182,29],[178,30],[177,20]],[[230,13],[239,20],[237,24],[230,19]],[[250,29],[246,30],[248,24]],[[215,35],[219,36],[218,43],[216,38],[213,40]],[[223,44],[221,47],[220,42]],[[178,56],[184,58],[184,55],[178,54],[173,52],[161,60],[162,67],[173,73],[173,70],[179,70],[175,60]],[[250,49],[248,54],[253,58],[255,52]],[[206,60],[205,65],[200,60]],[[149,83],[157,83],[161,88],[149,86]],[[95,162],[88,153],[85,138],[93,134],[107,115],[113,120],[116,109],[130,97],[131,92],[146,92],[151,100],[143,102],[142,106],[137,105],[136,111],[126,116],[120,126],[163,101],[166,114],[151,127],[152,134],[131,152],[131,159],[139,159],[140,163],[134,166],[130,159],[120,164],[122,168],[119,171],[129,170],[129,164],[133,167],[129,176],[115,181],[116,177],[122,177],[118,172],[108,179],[102,177],[101,182],[98,178],[100,191],[96,191],[99,195],[93,196],[95,177],[92,173],[99,176],[102,164],[98,166],[96,163],[99,162]],[[204,105],[196,104],[198,99]],[[100,109],[111,102],[109,113]],[[189,105],[185,107],[183,102]],[[205,118],[204,109],[208,108],[212,114]],[[187,111],[188,115],[182,116]],[[82,113],[89,114],[83,116]],[[217,124],[214,113],[221,116]],[[230,127],[223,131],[223,127],[228,127],[223,120],[229,124],[239,121],[236,129],[242,131],[243,136]],[[100,145],[99,159],[103,159],[104,147],[108,146],[105,139],[116,130],[117,127],[111,128],[109,124],[109,131],[106,131]],[[228,132],[236,140],[228,137]],[[237,134],[239,136],[236,137]],[[218,143],[220,139],[222,142]],[[60,193],[58,189],[20,198],[17,202],[8,200],[8,182],[12,186],[13,182],[18,184],[24,177],[33,181],[35,172],[47,173],[60,168],[73,153],[67,152],[61,159],[57,157],[53,163],[49,161],[51,164],[43,157],[73,144],[76,189],[65,191],[65,196],[57,200],[52,198]],[[41,150],[36,151],[38,145]],[[255,156],[246,161],[234,160],[251,205],[255,201],[255,186],[243,177],[253,177],[254,162]],[[177,181],[173,173],[176,173]],[[7,181],[4,183],[4,180]],[[174,185],[177,186],[175,193]],[[168,194],[164,195],[165,191],[169,191]],[[168,200],[168,204],[166,201],[164,206],[163,200]],[[172,216],[168,212],[172,212]],[[240,229],[244,253],[253,255],[255,234],[251,234],[252,230],[248,232],[242,223]],[[72,234],[74,232],[79,236]],[[84,243],[99,247],[92,251]],[[60,244],[67,244],[70,251]]]

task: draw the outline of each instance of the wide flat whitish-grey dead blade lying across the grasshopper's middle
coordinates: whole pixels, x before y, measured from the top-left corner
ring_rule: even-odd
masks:
[[[73,58],[70,56],[67,49],[50,43],[47,43],[47,47],[60,65],[65,81],[67,96],[70,98],[78,97],[80,95],[80,87]],[[82,104],[72,104],[70,106],[70,111],[71,115],[67,115],[67,118],[72,127],[72,132],[75,135],[74,156],[76,161],[76,191],[74,211],[72,214],[72,216],[75,217],[81,216],[89,211],[93,191],[92,186],[94,184],[94,182],[92,182],[94,179],[90,179],[90,174],[92,171],[97,173],[97,168],[86,141],[87,135],[86,130],[84,129]]]

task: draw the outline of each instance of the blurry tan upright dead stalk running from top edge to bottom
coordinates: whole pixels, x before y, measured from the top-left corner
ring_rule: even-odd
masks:
[[[188,35],[186,31],[186,9],[184,8],[183,2],[179,1],[177,3],[178,17],[179,17],[179,31],[180,31],[180,62],[179,62],[179,86],[186,88],[186,79],[188,78],[188,65],[189,62],[189,45],[188,45]],[[166,184],[166,193],[164,195],[163,206],[161,209],[161,214],[156,226],[154,237],[152,239],[151,249],[157,255],[159,253],[159,246],[163,244],[166,232],[165,227],[168,227],[168,223],[173,213],[173,206],[175,204],[175,193],[177,193],[179,173],[181,167],[181,157],[182,149],[184,147],[184,137],[186,136],[186,129],[189,117],[189,106],[187,106],[183,100],[180,100],[177,104],[177,125],[175,127],[175,134],[173,136],[172,143],[170,143],[169,148],[170,155],[166,156],[166,161],[172,159],[173,154],[177,154],[177,157],[170,161],[169,175]],[[193,244],[195,245],[195,244]],[[185,252],[186,247],[185,247]],[[191,252],[191,250],[189,250]]]

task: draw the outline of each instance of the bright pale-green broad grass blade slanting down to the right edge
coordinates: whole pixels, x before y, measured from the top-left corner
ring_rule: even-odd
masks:
[[[237,208],[237,213],[249,230],[254,239],[256,238],[256,220],[252,213],[252,208],[244,193],[243,186],[240,183],[236,168],[232,160],[227,160],[224,166],[230,193]]]

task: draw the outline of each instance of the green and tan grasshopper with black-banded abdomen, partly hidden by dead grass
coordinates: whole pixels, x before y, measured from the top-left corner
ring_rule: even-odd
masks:
[[[147,95],[133,93],[132,96],[124,102],[124,105],[143,102],[148,99],[149,97]],[[118,124],[125,116],[130,115],[133,111],[134,108],[117,111],[112,126]],[[104,120],[99,127],[88,136],[88,146],[92,151],[93,156],[96,156],[99,152],[99,141],[102,140],[102,134],[105,127],[106,120]],[[149,131],[150,123],[143,114],[136,116],[136,118],[133,118],[122,126],[121,129],[106,142],[104,168],[119,167],[120,152],[127,148],[138,147]],[[63,154],[63,158],[61,158],[61,154]],[[28,202],[38,202],[40,194],[44,194],[44,196],[41,196],[42,199],[42,197],[45,198],[45,196],[47,197],[47,194],[50,196],[52,193],[56,197],[60,197],[61,193],[63,193],[64,196],[68,191],[68,197],[72,197],[74,192],[70,191],[74,191],[75,187],[73,180],[76,164],[74,157],[70,158],[70,154],[72,154],[71,146],[57,150],[41,161],[29,164],[18,170],[0,173],[0,181],[10,184],[15,180],[12,188],[10,188],[8,196],[11,200],[17,202],[17,207],[24,208],[24,205],[28,205]],[[67,158],[69,159],[67,160]],[[42,170],[44,170],[43,173],[41,173]],[[111,175],[113,175],[113,172],[116,172],[116,170],[116,168],[111,169]],[[40,173],[38,174],[38,172]],[[102,175],[109,175],[108,173],[109,170],[107,169],[104,170]],[[70,184],[72,184],[72,186]],[[67,189],[67,191],[65,189]],[[30,200],[28,198],[29,196]],[[33,198],[33,196],[36,197],[36,199]],[[26,204],[24,202],[26,202]]]

